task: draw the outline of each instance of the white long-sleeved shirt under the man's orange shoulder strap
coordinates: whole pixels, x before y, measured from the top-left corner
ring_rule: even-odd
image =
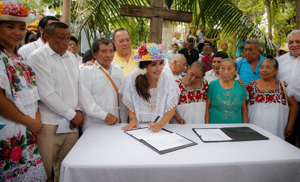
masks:
[[[97,62],[97,61],[96,61]],[[119,90],[124,81],[124,72],[115,63],[110,64],[111,73],[103,68],[98,62],[97,65],[84,66],[79,74],[79,106],[84,111],[85,121],[82,132],[91,123],[105,123],[107,114],[112,114],[127,123],[128,114],[120,96],[120,107],[118,107],[117,93],[113,84],[103,73],[100,67],[112,78]]]

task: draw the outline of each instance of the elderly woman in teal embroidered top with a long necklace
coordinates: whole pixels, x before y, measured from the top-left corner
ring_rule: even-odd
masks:
[[[234,80],[237,71],[234,60],[220,62],[220,78],[208,85],[205,124],[247,123],[247,92]]]

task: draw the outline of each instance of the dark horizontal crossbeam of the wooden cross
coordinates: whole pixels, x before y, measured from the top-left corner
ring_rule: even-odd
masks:
[[[193,13],[169,10],[165,8],[146,7],[137,5],[120,5],[122,17],[162,18],[168,21],[191,23]]]

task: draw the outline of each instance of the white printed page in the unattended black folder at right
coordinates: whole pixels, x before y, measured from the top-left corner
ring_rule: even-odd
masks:
[[[232,140],[219,128],[214,129],[195,129],[203,141],[229,141]]]

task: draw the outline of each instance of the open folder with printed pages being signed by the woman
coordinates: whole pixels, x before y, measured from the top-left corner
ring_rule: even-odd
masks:
[[[125,131],[125,133],[136,138],[159,154],[168,153],[197,144],[181,135],[178,135],[177,133],[170,132],[166,129],[161,129],[159,132],[152,132],[148,130],[148,127],[146,127]]]

